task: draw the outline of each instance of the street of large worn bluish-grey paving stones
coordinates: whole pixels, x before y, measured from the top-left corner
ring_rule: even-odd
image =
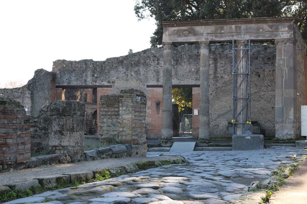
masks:
[[[274,147],[262,151],[150,152],[153,155],[182,155],[190,164],[168,165],[112,179],[47,191],[7,204],[226,204],[238,198],[252,181],[270,177],[277,165],[292,163],[298,148]],[[22,200],[23,199],[23,200]],[[35,201],[34,201],[35,200]]]

